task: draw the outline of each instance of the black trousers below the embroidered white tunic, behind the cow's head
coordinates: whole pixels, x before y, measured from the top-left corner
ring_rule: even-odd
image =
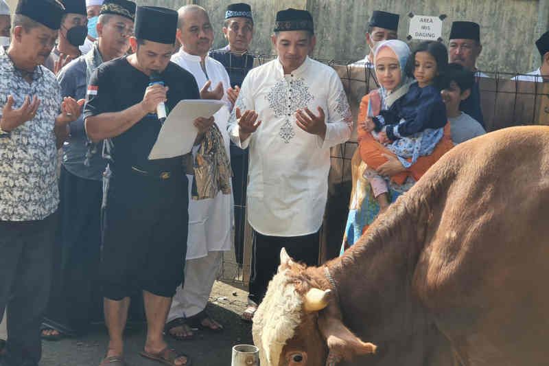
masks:
[[[272,276],[277,273],[282,248],[285,248],[288,255],[297,262],[316,266],[320,246],[319,232],[305,236],[284,237],[266,236],[254,231],[249,299],[259,304],[265,297],[267,285]]]

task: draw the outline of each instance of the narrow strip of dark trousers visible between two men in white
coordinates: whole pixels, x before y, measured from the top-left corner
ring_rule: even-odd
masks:
[[[246,226],[246,188],[248,186],[248,150],[231,142],[233,196],[235,198],[235,258],[242,266],[244,258],[244,227]]]

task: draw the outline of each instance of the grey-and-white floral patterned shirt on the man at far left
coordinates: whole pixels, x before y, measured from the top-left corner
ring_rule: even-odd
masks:
[[[0,47],[0,115],[8,95],[20,108],[27,95],[40,106],[33,119],[0,138],[0,220],[42,220],[59,203],[54,124],[60,113],[61,91],[54,73],[36,67],[27,82]]]

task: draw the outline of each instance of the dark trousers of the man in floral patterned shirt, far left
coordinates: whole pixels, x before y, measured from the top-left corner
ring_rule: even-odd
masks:
[[[37,366],[40,361],[40,323],[49,298],[56,227],[57,214],[0,221],[0,314],[8,306],[2,366]]]

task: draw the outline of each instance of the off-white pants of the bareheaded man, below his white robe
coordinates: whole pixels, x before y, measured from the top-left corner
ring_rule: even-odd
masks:
[[[213,282],[218,277],[222,251],[210,251],[206,257],[185,262],[185,285],[178,286],[167,321],[188,318],[206,308]]]

